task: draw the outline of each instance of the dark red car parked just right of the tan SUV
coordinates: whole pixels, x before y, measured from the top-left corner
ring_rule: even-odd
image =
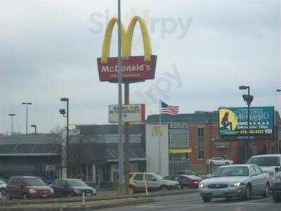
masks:
[[[178,183],[181,186],[181,189],[198,188],[200,181],[202,181],[200,177],[197,177],[195,175],[184,175],[184,174],[171,175],[165,177],[164,179],[178,181]]]

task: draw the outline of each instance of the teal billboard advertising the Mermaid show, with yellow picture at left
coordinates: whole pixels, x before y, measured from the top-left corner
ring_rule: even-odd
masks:
[[[248,133],[248,108],[218,108],[219,134],[221,136],[243,136]],[[251,135],[272,134],[274,107],[251,107],[249,133]]]

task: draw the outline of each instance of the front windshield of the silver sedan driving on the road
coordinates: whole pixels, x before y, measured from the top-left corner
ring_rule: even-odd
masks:
[[[215,172],[213,177],[239,177],[249,176],[249,169],[245,166],[231,166],[231,167],[220,167]]]

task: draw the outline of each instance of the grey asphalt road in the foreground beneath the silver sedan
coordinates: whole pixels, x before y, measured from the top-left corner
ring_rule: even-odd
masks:
[[[178,196],[155,197],[155,202],[143,205],[130,205],[103,209],[103,211],[147,211],[147,210],[207,210],[207,211],[280,211],[281,203],[273,203],[272,198],[253,197],[251,200],[235,198],[229,202],[224,199],[213,199],[204,203],[198,193]],[[102,211],[102,210],[100,210]]]

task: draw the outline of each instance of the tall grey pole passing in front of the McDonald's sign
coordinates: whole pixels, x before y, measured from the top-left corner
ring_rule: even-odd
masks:
[[[124,192],[124,166],[123,166],[123,113],[122,113],[122,58],[121,58],[121,2],[118,0],[118,106],[119,106],[119,193]]]

